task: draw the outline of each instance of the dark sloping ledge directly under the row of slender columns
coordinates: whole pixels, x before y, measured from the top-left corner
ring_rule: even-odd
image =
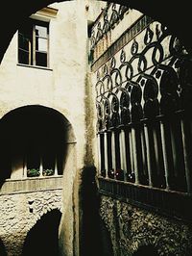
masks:
[[[192,196],[99,177],[99,192],[163,216],[192,222]]]

